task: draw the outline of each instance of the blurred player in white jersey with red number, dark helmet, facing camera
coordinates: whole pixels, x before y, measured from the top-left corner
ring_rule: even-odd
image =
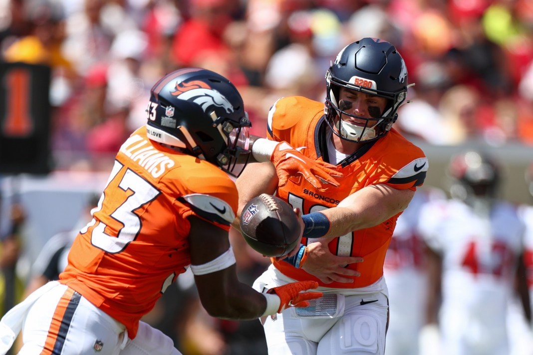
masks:
[[[458,154],[448,172],[453,198],[426,204],[419,225],[430,250],[428,321],[438,320],[442,354],[506,355],[524,226],[516,207],[496,198],[501,169],[490,156]],[[524,277],[516,280],[525,285]]]

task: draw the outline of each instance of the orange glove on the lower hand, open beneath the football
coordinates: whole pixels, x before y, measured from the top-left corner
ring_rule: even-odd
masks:
[[[287,285],[271,288],[266,293],[276,294],[280,299],[278,313],[281,313],[287,307],[308,307],[309,300],[322,297],[322,292],[302,292],[310,288],[317,288],[316,281],[292,282]]]

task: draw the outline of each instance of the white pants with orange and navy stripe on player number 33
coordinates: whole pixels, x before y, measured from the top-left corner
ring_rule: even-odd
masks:
[[[16,337],[20,325],[19,355],[181,355],[168,336],[142,321],[129,339],[124,325],[59,282],[49,282],[6,313],[0,321],[2,349],[9,350],[4,340]]]

